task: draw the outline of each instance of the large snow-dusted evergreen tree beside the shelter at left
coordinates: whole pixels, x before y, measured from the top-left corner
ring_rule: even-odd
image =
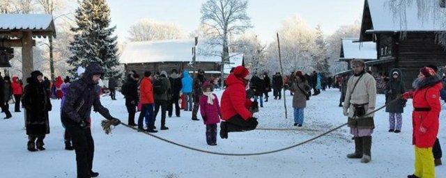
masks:
[[[88,63],[98,63],[105,72],[105,77],[120,76],[116,69],[117,58],[116,36],[112,33],[116,26],[110,25],[110,10],[105,0],[84,0],[76,10],[77,27],[74,40],[70,42],[72,56],[68,64],[69,72],[77,76],[77,67],[86,67]]]

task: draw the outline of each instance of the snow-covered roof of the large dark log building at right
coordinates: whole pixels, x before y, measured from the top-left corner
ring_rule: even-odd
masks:
[[[412,3],[410,6],[407,6],[406,15],[400,16],[392,13],[389,0],[366,0],[363,12],[361,27],[362,41],[371,40],[371,37],[363,37],[365,35],[364,33],[445,30],[442,23],[435,22],[432,19],[436,17],[429,17],[431,19],[427,20],[421,19],[418,16],[417,3]]]

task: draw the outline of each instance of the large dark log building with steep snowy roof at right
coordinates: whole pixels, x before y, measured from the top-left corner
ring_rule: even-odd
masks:
[[[388,74],[397,67],[409,89],[421,67],[446,65],[446,50],[436,42],[436,32],[445,29],[432,19],[420,19],[416,4],[406,9],[406,17],[395,17],[386,3],[365,0],[359,41],[376,42],[377,60],[372,72]]]

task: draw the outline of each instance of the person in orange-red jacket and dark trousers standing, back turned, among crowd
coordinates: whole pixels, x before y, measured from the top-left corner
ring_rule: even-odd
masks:
[[[139,84],[139,102],[142,104],[141,113],[139,113],[138,129],[141,131],[148,131],[151,133],[157,132],[155,130],[155,115],[153,114],[153,88],[150,79],[151,72],[144,72],[144,78]],[[147,130],[144,130],[143,119],[146,117]]]

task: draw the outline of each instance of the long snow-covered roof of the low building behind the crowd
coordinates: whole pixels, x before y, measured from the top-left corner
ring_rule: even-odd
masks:
[[[124,64],[191,62],[194,44],[194,39],[129,42],[125,46],[119,61]],[[200,44],[197,45],[197,51],[199,48]],[[229,56],[234,56],[234,54],[229,54]],[[221,61],[220,56],[199,55],[197,53],[197,62],[220,63]]]

